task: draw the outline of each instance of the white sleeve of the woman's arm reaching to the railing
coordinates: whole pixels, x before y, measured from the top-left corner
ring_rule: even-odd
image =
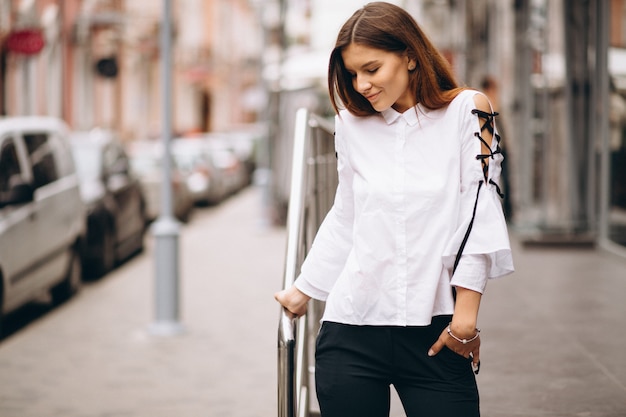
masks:
[[[342,121],[335,118],[335,151],[339,183],[335,200],[315,235],[295,286],[308,296],[325,301],[352,248],[354,171],[349,163],[348,149],[342,133]]]

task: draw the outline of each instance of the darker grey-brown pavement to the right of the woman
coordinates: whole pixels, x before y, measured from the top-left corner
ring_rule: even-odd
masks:
[[[481,306],[483,417],[626,416],[626,259],[512,243]]]

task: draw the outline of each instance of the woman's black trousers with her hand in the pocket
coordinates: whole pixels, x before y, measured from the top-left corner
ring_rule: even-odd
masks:
[[[387,417],[393,385],[407,417],[478,417],[471,360],[428,350],[450,322],[425,327],[324,322],[316,341],[315,386],[322,417]]]

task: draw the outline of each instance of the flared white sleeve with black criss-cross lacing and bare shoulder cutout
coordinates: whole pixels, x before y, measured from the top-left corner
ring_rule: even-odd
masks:
[[[470,93],[462,106],[459,215],[443,263],[452,275],[453,286],[482,293],[487,279],[510,274],[514,266],[500,201],[503,156],[495,124],[497,113],[490,107],[477,108],[476,102],[488,103],[482,97],[474,100],[477,94]],[[460,248],[462,256],[457,259]]]

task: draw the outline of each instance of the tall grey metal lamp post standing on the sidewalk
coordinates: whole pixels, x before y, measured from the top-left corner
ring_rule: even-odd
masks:
[[[152,227],[152,233],[155,237],[156,321],[150,326],[151,333],[159,336],[172,336],[183,331],[183,327],[179,323],[178,303],[178,236],[180,224],[172,215],[170,157],[170,139],[172,135],[171,16],[170,0],[163,0],[161,24],[163,183],[161,213]]]

